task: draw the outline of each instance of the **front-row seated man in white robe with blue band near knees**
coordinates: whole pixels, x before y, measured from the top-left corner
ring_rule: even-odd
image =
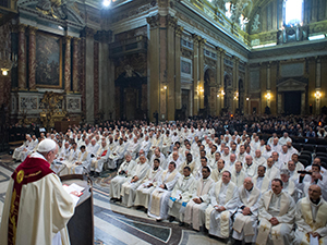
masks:
[[[171,192],[169,199],[169,221],[173,221],[175,218],[180,221],[180,226],[184,224],[185,208],[193,195],[195,187],[195,179],[191,174],[191,168],[184,167],[183,176],[179,179],[175,186]]]

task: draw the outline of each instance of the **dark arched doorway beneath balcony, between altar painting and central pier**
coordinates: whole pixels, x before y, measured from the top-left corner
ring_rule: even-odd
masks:
[[[141,77],[136,72],[123,72],[119,75],[114,81],[117,119],[144,119],[147,113],[143,107],[146,86],[146,77]]]

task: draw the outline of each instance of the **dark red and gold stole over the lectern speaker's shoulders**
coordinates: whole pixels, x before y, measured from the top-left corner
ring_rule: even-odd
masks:
[[[55,172],[50,169],[49,162],[40,158],[31,158],[28,156],[11,175],[11,177],[14,180],[14,184],[8,222],[8,245],[15,245],[21,192],[23,185],[39,181],[50,173]]]

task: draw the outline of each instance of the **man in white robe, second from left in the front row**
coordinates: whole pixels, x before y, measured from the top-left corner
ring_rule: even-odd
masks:
[[[133,172],[130,177],[126,179],[125,183],[121,186],[121,198],[122,204],[126,207],[132,207],[135,200],[135,191],[142,184],[143,179],[145,177],[149,166],[147,159],[144,155],[138,157],[136,167],[133,169]]]

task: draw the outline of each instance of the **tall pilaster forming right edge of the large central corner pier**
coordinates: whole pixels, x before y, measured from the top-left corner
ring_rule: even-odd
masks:
[[[174,70],[175,70],[175,50],[174,50],[174,27],[177,25],[177,19],[171,15],[167,15],[167,84],[168,84],[168,120],[174,120],[175,111],[175,83],[174,83]]]

